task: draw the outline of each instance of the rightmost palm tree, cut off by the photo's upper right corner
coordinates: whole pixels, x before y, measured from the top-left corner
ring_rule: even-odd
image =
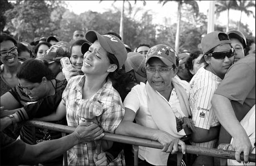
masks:
[[[242,12],[245,12],[245,14],[247,16],[253,15],[253,18],[255,18],[254,14],[253,14],[253,11],[248,10],[249,7],[255,7],[255,3],[253,3],[253,1],[237,1],[236,10],[241,11],[240,20],[239,20],[238,27],[237,27],[238,31],[240,31]]]

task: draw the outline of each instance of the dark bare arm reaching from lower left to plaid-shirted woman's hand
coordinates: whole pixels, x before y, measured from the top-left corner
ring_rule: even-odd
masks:
[[[36,164],[56,158],[76,144],[101,139],[104,137],[102,132],[103,130],[93,122],[82,122],[72,134],[65,137],[35,145],[26,144],[19,164]]]

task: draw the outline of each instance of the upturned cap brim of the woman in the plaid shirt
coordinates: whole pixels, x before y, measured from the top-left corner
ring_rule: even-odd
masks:
[[[100,42],[102,48],[104,48],[106,50],[106,52],[114,54],[114,52],[111,49],[111,47],[109,46],[108,42],[106,41],[106,39],[104,39],[104,36],[100,35],[100,33],[96,32],[94,30],[90,30],[90,31],[86,32],[85,39],[92,43],[94,41],[98,40],[98,42]]]

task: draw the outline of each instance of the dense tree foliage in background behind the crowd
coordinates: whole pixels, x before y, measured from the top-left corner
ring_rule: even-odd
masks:
[[[5,12],[2,4],[8,5]],[[130,7],[129,7],[130,8]],[[166,44],[175,46],[177,23],[156,25],[152,23],[150,10],[141,12],[141,8],[135,5],[125,10],[123,17],[123,42],[133,50],[139,44],[150,46]],[[200,44],[201,36],[207,33],[207,16],[199,12],[195,14],[190,4],[183,4],[182,17],[180,19],[179,50],[195,50]],[[48,37],[57,35],[60,40],[71,41],[76,29],[88,31],[94,29],[101,34],[107,32],[119,32],[121,11],[113,6],[106,12],[99,13],[85,11],[79,15],[67,9],[65,1],[16,1],[7,3],[1,1],[1,29],[5,29],[14,35],[18,41],[31,42],[34,37]],[[6,16],[6,25],[2,27],[2,16]],[[138,20],[138,17],[139,20]],[[136,18],[136,19],[135,19]],[[238,20],[237,20],[238,21]],[[237,23],[230,21],[230,28],[236,29]],[[216,31],[224,31],[224,25],[215,25]],[[241,23],[241,31],[245,36],[251,35],[247,24]]]

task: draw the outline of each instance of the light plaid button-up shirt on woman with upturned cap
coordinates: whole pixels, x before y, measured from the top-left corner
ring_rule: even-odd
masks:
[[[82,87],[84,82],[85,75],[75,76],[69,80],[63,92],[62,97],[66,105],[68,126],[78,126],[79,120],[77,115],[82,104]],[[97,120],[105,132],[114,133],[122,121],[125,109],[123,108],[119,93],[112,87],[111,80],[108,80],[90,100],[100,100],[102,102],[103,113],[97,117]],[[96,154],[96,142],[77,144],[68,150],[68,165],[95,165],[93,154]]]

